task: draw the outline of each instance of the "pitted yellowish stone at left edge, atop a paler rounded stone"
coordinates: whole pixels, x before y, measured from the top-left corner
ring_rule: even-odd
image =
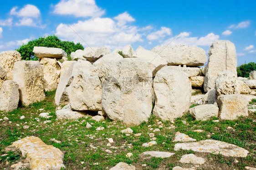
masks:
[[[16,61],[21,60],[18,51],[3,51],[0,53],[0,65],[2,65],[7,74],[7,80],[13,80],[13,67]]]

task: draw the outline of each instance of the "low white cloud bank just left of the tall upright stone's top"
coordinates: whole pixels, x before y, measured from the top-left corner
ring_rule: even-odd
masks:
[[[220,38],[219,35],[215,35],[214,33],[210,33],[205,37],[189,37],[188,32],[180,33],[175,39],[174,37],[165,40],[163,45],[189,45],[189,46],[210,46],[213,41],[218,40]]]

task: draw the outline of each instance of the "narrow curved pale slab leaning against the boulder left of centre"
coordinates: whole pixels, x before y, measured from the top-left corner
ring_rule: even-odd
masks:
[[[89,61],[78,60],[61,74],[60,82],[55,94],[56,105],[67,105],[69,103],[67,87],[72,83],[73,75],[76,75],[80,70],[87,69],[91,66],[92,64]]]

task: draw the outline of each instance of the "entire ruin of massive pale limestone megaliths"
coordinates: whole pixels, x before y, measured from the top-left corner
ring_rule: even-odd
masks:
[[[248,101],[256,95],[256,71],[249,79],[237,77],[236,48],[228,40],[213,42],[208,62],[203,49],[185,45],[127,45],[113,52],[87,47],[72,52],[72,61],[58,48],[35,46],[33,52],[38,61],[22,61],[17,51],[0,54],[0,110],[42,101],[44,91],[56,89],[56,105],[66,105],[56,110],[58,119],[94,113],[95,119],[133,126],[151,113],[163,120],[188,111],[197,120],[234,120],[248,115]],[[194,88],[207,93],[191,95]],[[191,104],[197,106],[189,109]]]

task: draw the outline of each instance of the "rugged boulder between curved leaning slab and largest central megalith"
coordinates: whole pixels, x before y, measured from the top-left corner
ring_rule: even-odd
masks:
[[[89,68],[79,70],[72,76],[67,95],[73,110],[102,110],[102,85],[98,74]]]

